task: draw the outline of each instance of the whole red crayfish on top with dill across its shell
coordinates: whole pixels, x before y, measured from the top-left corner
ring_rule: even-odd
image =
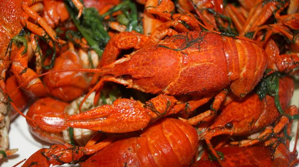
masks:
[[[123,47],[131,46],[130,41],[120,42]],[[150,120],[182,110],[193,111],[218,92],[211,110],[196,116],[199,122],[219,109],[228,92],[225,88],[237,96],[249,93],[262,78],[267,64],[265,51],[250,40],[204,31],[179,33],[144,45],[99,70],[84,70],[99,74],[97,87],[115,82],[159,96],[146,105],[119,99],[111,106],[73,115],[66,125],[110,133],[135,131],[146,127]],[[194,98],[181,102],[172,95]]]

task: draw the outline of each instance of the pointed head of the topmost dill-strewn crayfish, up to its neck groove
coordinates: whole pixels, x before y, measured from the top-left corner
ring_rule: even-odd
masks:
[[[175,51],[165,50],[156,46],[139,50],[130,57],[104,66],[100,76],[147,93],[164,93],[167,86],[177,79],[181,62]]]

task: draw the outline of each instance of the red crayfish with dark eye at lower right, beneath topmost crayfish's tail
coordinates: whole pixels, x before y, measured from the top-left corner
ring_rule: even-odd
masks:
[[[286,110],[286,113],[289,115],[298,114],[296,106],[288,107],[291,97],[293,96],[293,91],[294,83],[291,78],[285,77],[280,79],[278,92],[279,102],[282,110]],[[201,129],[199,139],[206,141],[215,157],[217,157],[217,154],[210,142],[215,136],[250,135],[266,127],[256,139],[231,143],[248,147],[279,134],[289,123],[289,118],[284,115],[281,116],[280,111],[276,108],[274,97],[265,95],[262,100],[259,98],[259,94],[252,92],[241,101],[232,101],[222,109],[221,114],[214,120],[212,125],[208,126],[208,128]],[[250,108],[248,108],[248,106],[250,106]],[[277,121],[277,123],[275,127],[272,127],[271,124],[275,121]],[[193,124],[192,118],[188,120],[188,122]]]

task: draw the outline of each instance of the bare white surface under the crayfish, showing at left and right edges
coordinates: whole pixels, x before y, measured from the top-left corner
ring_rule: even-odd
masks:
[[[296,83],[295,88],[296,90],[294,92],[294,96],[292,98],[291,104],[298,106],[299,104],[299,82],[298,81]],[[294,124],[293,127],[295,128],[293,129],[296,131],[297,126],[295,125],[297,124]],[[293,132],[293,139],[296,133],[295,131]],[[9,142],[10,142],[10,149],[18,148],[19,150],[16,153],[16,155],[0,160],[1,167],[12,167],[13,165],[17,164],[21,160],[28,159],[30,155],[32,155],[40,148],[49,147],[49,145],[34,138],[30,134],[25,118],[21,116],[18,116],[10,124]],[[294,147],[294,141],[291,142],[291,148],[293,147]],[[297,146],[297,150],[299,150],[299,146]],[[20,167],[20,165],[18,167]],[[63,167],[74,167],[74,166],[65,165]]]

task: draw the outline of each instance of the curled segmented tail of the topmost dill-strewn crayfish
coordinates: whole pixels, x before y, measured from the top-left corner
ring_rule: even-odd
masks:
[[[268,65],[266,52],[256,44],[224,37],[224,55],[231,89],[237,96],[249,93],[261,80]]]

